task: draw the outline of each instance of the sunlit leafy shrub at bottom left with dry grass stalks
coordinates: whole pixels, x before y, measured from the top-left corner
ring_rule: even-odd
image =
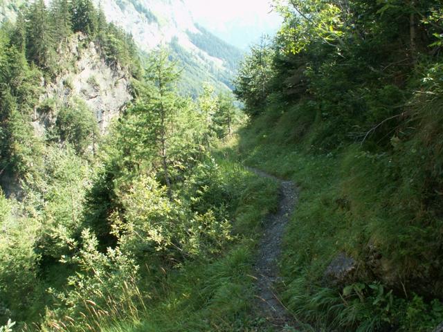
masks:
[[[66,240],[74,254],[62,257],[62,262],[77,266],[78,272],[69,277],[66,291],[49,290],[61,307],[47,315],[46,326],[62,331],[89,326],[98,331],[96,326],[103,322],[138,317],[144,304],[134,259],[118,248],[99,252],[97,238],[88,229],[82,231],[78,252],[77,241]]]

